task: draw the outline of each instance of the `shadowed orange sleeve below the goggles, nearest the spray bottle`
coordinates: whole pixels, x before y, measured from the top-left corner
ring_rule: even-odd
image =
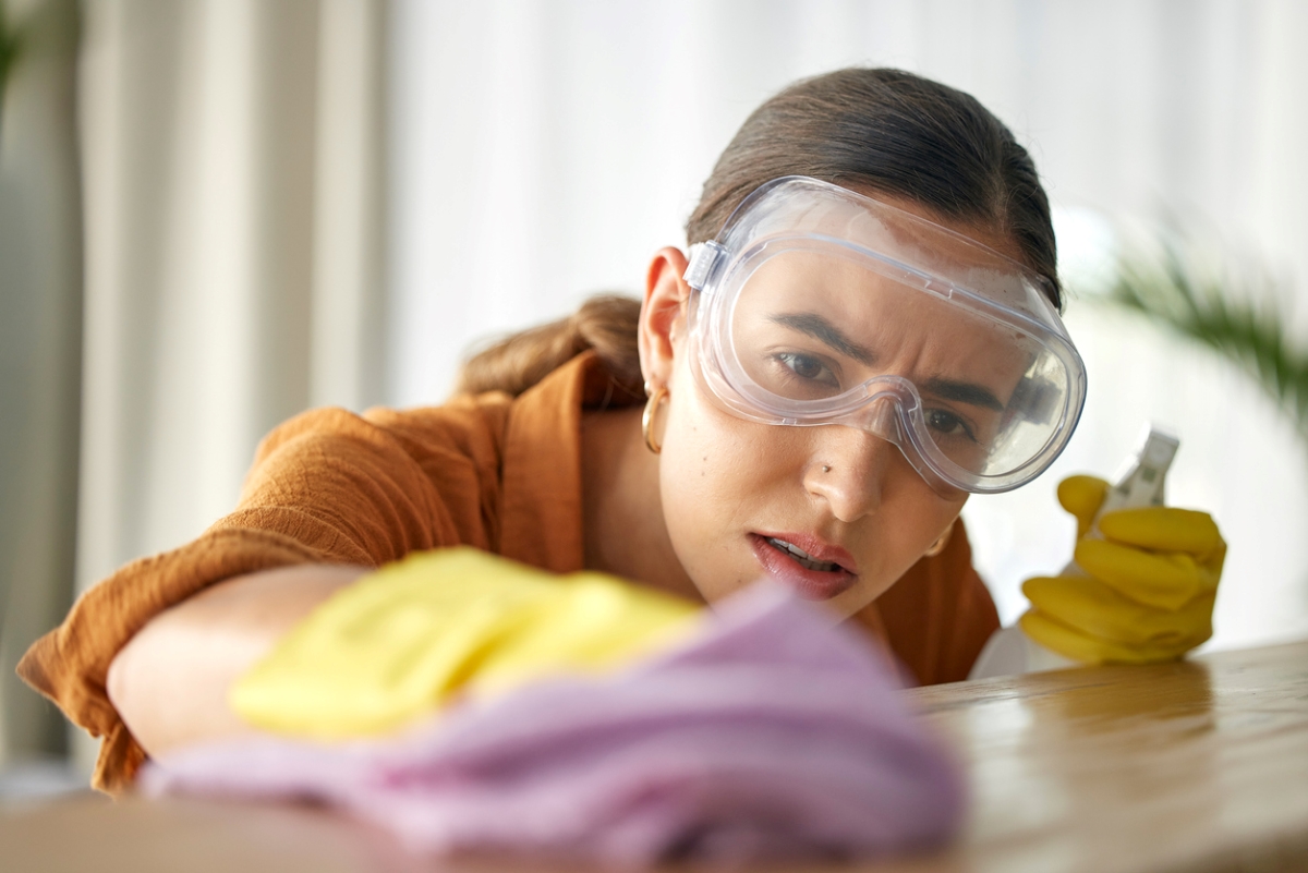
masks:
[[[922,685],[965,680],[999,629],[994,600],[972,567],[963,519],[940,554],[913,565],[874,606],[884,639]]]

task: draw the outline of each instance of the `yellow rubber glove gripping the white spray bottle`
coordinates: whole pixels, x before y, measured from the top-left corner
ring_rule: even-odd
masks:
[[[1087,538],[1108,482],[1071,476],[1058,502],[1076,516],[1075,571],[1028,579],[1022,630],[1086,664],[1150,664],[1181,657],[1213,635],[1226,542],[1206,512],[1151,506],[1107,512]]]

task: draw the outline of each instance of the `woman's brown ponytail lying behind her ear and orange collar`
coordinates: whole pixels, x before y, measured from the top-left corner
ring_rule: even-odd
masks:
[[[504,391],[514,397],[582,352],[594,350],[617,388],[644,399],[636,345],[641,302],[598,294],[568,318],[508,336],[473,354],[459,372],[455,393]]]

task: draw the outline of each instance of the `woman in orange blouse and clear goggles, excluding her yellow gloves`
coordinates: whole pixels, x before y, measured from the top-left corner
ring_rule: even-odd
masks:
[[[105,736],[95,784],[242,729],[226,687],[288,627],[456,544],[708,601],[770,575],[964,678],[998,621],[959,511],[1044,469],[1084,388],[1027,152],[963,93],[840,71],[746,122],[687,230],[640,306],[508,340],[445,406],[283,425],[235,512],[88,592],[21,672]]]

